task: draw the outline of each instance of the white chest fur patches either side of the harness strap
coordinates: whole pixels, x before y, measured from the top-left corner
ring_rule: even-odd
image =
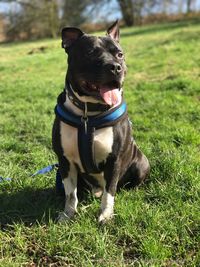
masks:
[[[78,164],[84,172],[78,150],[78,130],[64,122],[60,122],[61,145],[64,156],[71,163]],[[113,146],[113,128],[106,127],[96,130],[94,133],[94,157],[96,163],[105,161]]]

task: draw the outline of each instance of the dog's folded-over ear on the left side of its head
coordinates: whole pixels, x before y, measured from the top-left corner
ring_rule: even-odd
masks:
[[[65,27],[62,29],[62,48],[67,49],[84,33],[78,29],[73,27]]]

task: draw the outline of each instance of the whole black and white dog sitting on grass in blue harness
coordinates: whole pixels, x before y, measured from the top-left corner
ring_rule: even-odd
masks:
[[[103,193],[99,222],[105,222],[113,215],[117,188],[137,185],[149,173],[149,162],[132,138],[123,102],[126,65],[118,22],[106,37],[66,27],[62,47],[68,54],[68,70],[53,127],[53,149],[66,195],[59,221],[74,216],[78,179],[85,179],[96,196]]]

